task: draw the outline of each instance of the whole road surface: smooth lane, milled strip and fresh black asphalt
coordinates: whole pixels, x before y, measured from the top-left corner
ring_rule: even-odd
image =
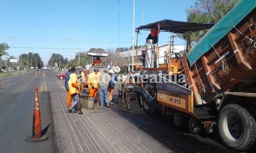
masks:
[[[114,102],[99,108],[102,112],[68,113],[64,80],[56,79],[56,74],[46,71],[45,76],[28,73],[0,79],[4,88],[0,90],[0,152],[234,152],[220,144],[217,132],[190,134],[186,128],[176,128],[171,117],[147,115],[136,100],[131,111]],[[24,140],[32,135],[35,86],[42,133],[49,138],[33,144]]]

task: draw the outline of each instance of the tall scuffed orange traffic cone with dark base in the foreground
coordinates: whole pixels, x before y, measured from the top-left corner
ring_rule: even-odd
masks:
[[[41,136],[41,117],[40,117],[40,109],[39,109],[39,101],[38,101],[38,87],[36,86],[36,94],[35,94],[35,104],[33,111],[33,128],[32,128],[32,137],[29,136],[25,139],[27,142],[40,142],[46,141],[48,136]]]

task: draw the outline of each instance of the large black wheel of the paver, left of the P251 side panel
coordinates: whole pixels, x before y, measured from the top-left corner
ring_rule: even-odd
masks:
[[[151,84],[146,84],[144,89],[150,94],[152,98],[155,98],[156,91],[153,89],[153,86]],[[147,114],[153,114],[155,111],[155,108],[149,103],[149,100],[141,95],[142,102],[143,102],[143,110]]]

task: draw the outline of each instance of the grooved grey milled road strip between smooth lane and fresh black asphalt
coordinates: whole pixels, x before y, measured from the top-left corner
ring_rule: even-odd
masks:
[[[65,93],[50,97],[57,97],[51,98],[51,106],[61,152],[172,152],[111,108],[99,108],[102,112],[93,113],[82,109],[82,115],[68,113]]]

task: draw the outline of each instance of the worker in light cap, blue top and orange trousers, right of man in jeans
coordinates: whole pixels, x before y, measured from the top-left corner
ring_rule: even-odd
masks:
[[[109,104],[112,105],[112,104],[114,104],[112,99],[113,99],[113,92],[114,92],[114,89],[115,89],[115,81],[122,82],[122,80],[117,78],[117,76],[115,75],[115,73],[112,69],[110,69],[108,71],[108,74],[111,77],[111,81],[109,82],[108,87],[107,87],[108,100],[109,100]]]

